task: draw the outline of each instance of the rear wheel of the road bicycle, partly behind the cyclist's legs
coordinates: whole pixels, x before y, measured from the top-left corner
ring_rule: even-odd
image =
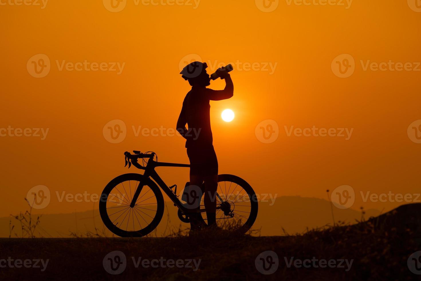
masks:
[[[242,178],[230,175],[218,175],[219,196],[216,197],[216,224],[225,230],[247,232],[256,221],[258,202],[253,188]],[[205,209],[204,194],[200,209]],[[202,218],[207,222],[206,212]]]

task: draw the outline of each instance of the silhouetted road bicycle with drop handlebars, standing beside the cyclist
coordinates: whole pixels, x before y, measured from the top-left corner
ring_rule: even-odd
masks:
[[[187,202],[183,203],[179,199],[180,195],[177,195],[177,185],[166,185],[155,171],[157,167],[188,168],[189,164],[158,162],[157,155],[153,152],[141,153],[133,150],[133,153],[124,153],[125,165],[144,170],[144,174],[122,174],[112,179],[99,200],[101,219],[112,233],[121,237],[141,237],[157,227],[163,217],[165,205],[158,186],[173,201],[174,206],[178,207],[178,217],[182,222],[190,222],[195,214],[196,219],[206,223],[204,183],[200,187],[188,187],[187,183],[188,188],[183,193]],[[142,164],[138,159],[142,159]],[[237,231],[245,233],[255,222],[258,211],[256,193],[244,179],[230,174],[218,175],[215,200],[218,227],[228,230],[234,225]],[[197,213],[201,215],[198,216]]]

